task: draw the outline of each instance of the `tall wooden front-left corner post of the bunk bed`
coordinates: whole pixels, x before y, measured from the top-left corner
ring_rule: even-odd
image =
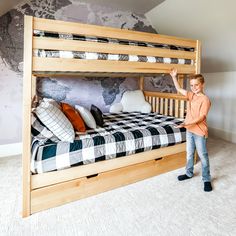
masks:
[[[32,97],[32,42],[33,42],[33,17],[24,18],[24,76],[23,76],[23,209],[22,216],[31,213],[31,97]]]

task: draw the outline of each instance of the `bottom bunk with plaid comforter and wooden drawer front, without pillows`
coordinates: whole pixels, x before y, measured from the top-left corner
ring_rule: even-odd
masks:
[[[74,142],[33,145],[30,212],[131,184],[185,165],[185,129],[157,113],[104,114]],[[70,168],[69,168],[70,167]]]

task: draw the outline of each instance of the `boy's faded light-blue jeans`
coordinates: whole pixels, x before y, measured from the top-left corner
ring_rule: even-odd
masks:
[[[198,156],[202,163],[202,180],[203,182],[210,182],[210,165],[208,159],[208,153],[206,148],[206,138],[197,134],[187,131],[187,164],[186,175],[188,177],[193,176],[194,167],[194,151],[197,149]]]

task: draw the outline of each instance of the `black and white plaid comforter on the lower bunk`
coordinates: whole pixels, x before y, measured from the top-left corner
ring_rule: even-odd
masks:
[[[181,122],[156,113],[104,114],[103,128],[78,135],[73,143],[32,143],[31,171],[43,173],[89,164],[184,142],[185,129],[175,128]]]

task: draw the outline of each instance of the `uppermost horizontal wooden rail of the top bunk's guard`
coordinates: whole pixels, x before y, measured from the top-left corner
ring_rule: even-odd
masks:
[[[196,40],[177,38],[173,36],[138,32],[105,26],[34,18],[34,29],[50,32],[71,33],[86,36],[127,39],[133,41],[196,47]]]

